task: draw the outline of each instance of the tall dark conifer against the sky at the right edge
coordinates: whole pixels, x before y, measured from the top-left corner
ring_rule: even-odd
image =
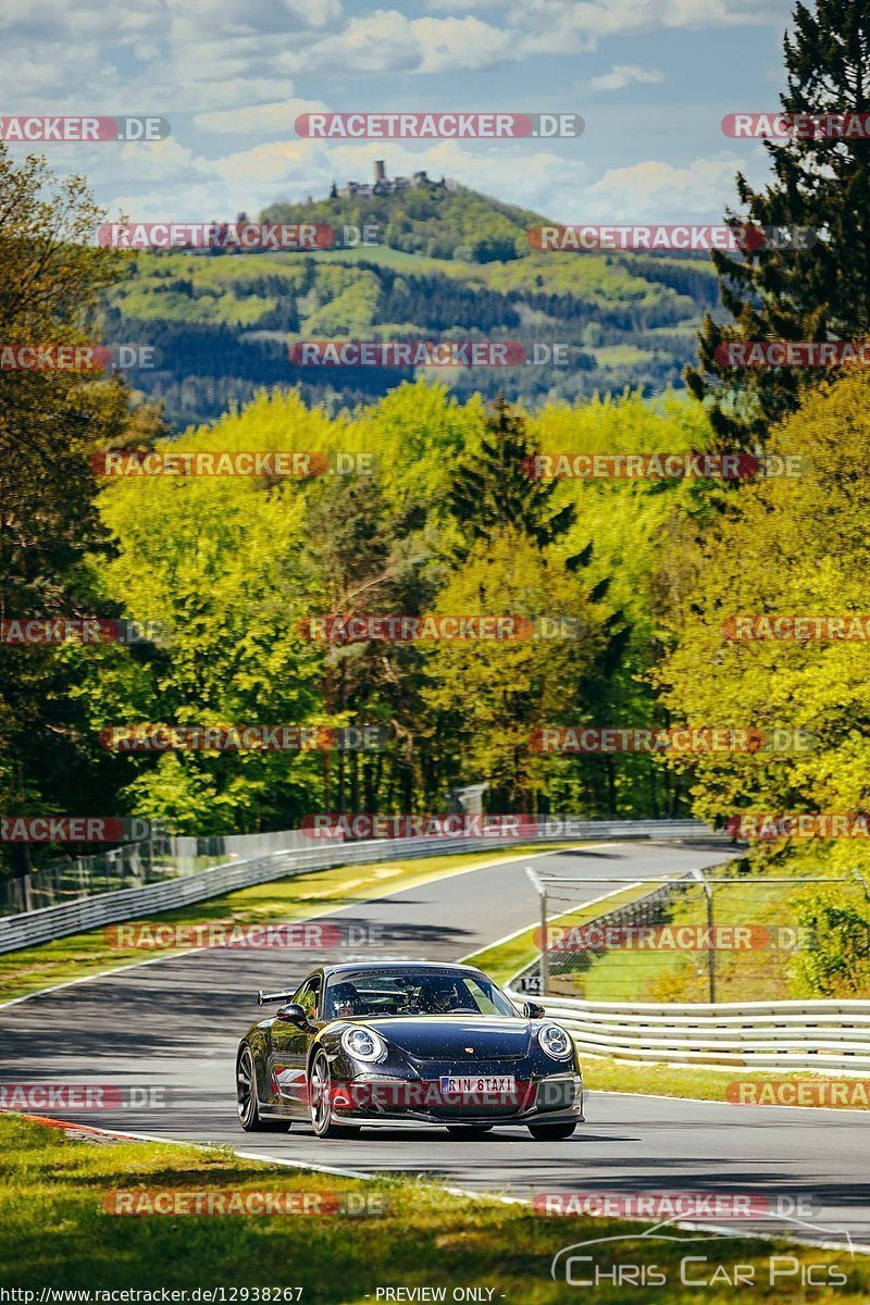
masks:
[[[794,10],[794,34],[784,40],[785,114],[870,112],[870,4],[818,0]],[[870,121],[870,120],[869,120]],[[717,347],[729,341],[833,341],[870,334],[870,140],[768,140],[775,179],[753,191],[737,176],[745,218],[762,227],[806,227],[817,241],[806,249],[770,243],[740,258],[713,253],[720,294],[733,321],[710,316],[700,333],[689,389],[710,410],[721,446],[763,446],[770,427],[794,411],[819,368],[724,365]]]

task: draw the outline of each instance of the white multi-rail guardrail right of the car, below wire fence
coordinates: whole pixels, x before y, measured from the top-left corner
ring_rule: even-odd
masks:
[[[870,1001],[661,1005],[509,992],[518,1001],[539,1001],[591,1056],[818,1073],[870,1070]]]

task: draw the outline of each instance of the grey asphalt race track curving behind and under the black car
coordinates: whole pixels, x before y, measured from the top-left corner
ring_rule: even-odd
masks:
[[[567,1142],[543,1143],[523,1128],[455,1141],[441,1129],[364,1130],[316,1141],[241,1133],[235,1113],[239,1035],[262,1011],[257,988],[292,987],[321,959],[458,959],[530,925],[537,899],[524,867],[560,874],[646,877],[713,865],[723,852],[608,844],[553,852],[412,886],[330,912],[334,921],[380,924],[383,945],[361,953],[210,949],[37,994],[0,1007],[3,1081],[111,1083],[166,1090],[163,1108],[64,1113],[64,1118],[154,1137],[230,1143],[245,1154],[369,1173],[428,1173],[454,1186],[530,1197],[544,1191],[753,1193],[773,1206],[802,1198],[811,1227],[741,1220],[770,1233],[870,1248],[867,1116],[644,1098],[588,1098],[587,1122]],[[608,891],[590,883],[577,900]],[[740,1077],[740,1071],[734,1073]],[[47,1112],[51,1113],[51,1112]],[[57,1113],[57,1112],[53,1112]],[[695,1223],[700,1220],[694,1220]],[[723,1220],[710,1220],[721,1227]],[[733,1227],[733,1224],[732,1224]]]

